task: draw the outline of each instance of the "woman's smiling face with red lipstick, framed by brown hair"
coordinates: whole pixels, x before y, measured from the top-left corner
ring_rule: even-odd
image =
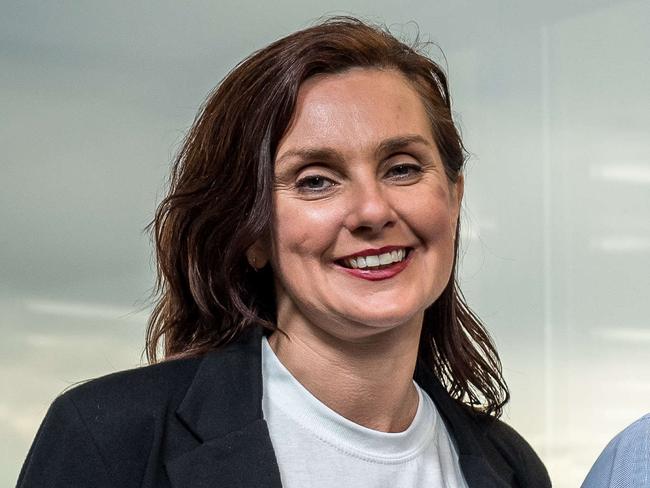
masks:
[[[275,163],[278,326],[360,339],[421,323],[449,281],[462,178],[450,183],[398,72],[306,81]]]

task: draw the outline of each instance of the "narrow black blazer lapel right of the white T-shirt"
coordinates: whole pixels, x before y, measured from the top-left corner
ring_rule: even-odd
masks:
[[[458,462],[465,481],[470,488],[508,488],[512,479],[512,470],[499,473],[487,462],[485,452],[481,447],[481,429],[475,420],[449,396],[447,390],[429,369],[418,362],[415,370],[415,381],[424,389],[442,417],[449,435],[455,441],[458,451]]]

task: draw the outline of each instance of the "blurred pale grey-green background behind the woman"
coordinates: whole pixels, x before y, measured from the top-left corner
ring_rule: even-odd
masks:
[[[559,488],[650,411],[650,3],[1,2],[0,484],[50,402],[144,363],[143,232],[207,93],[323,15],[444,51],[471,158],[462,286]],[[446,58],[446,59],[445,59]]]

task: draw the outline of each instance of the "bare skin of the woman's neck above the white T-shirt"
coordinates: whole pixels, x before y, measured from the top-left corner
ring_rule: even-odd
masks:
[[[278,303],[269,345],[294,378],[339,415],[369,429],[403,432],[418,408],[413,372],[423,315],[381,332],[357,323],[326,330]],[[367,333],[354,339],[336,334],[351,329]]]

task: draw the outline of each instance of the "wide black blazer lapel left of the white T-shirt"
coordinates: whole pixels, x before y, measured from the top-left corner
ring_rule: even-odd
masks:
[[[262,415],[261,332],[202,360],[176,412],[200,444],[167,461],[174,488],[281,488]]]

